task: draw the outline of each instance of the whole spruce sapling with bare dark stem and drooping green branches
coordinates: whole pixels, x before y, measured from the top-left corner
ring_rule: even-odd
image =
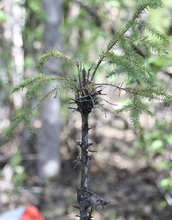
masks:
[[[142,14],[147,13],[148,9],[157,9],[161,7],[160,0],[143,0],[138,4],[131,20],[127,22],[122,32],[116,32],[107,47],[99,55],[96,65],[90,65],[89,69],[84,67],[82,56],[80,59],[73,59],[56,49],[51,49],[43,54],[39,60],[39,67],[43,66],[51,58],[63,59],[76,65],[77,74],[63,74],[61,76],[49,76],[42,73],[36,74],[32,78],[26,79],[16,86],[13,92],[26,88],[28,98],[36,95],[38,89],[46,83],[52,83],[52,89],[44,94],[37,106],[39,106],[49,96],[57,97],[59,90],[72,92],[70,98],[70,108],[80,113],[82,121],[81,140],[76,141],[76,146],[80,148],[80,155],[74,161],[75,167],[81,166],[80,186],[77,186],[77,216],[80,220],[92,219],[93,210],[104,207],[110,203],[99,197],[89,189],[88,185],[88,167],[91,160],[92,144],[89,142],[89,116],[95,108],[103,106],[106,101],[102,90],[110,86],[114,93],[125,92],[128,96],[128,103],[118,108],[115,114],[123,111],[129,112],[131,125],[134,129],[139,129],[139,117],[142,113],[153,116],[148,103],[158,100],[169,107],[172,102],[172,96],[164,88],[158,86],[155,82],[155,74],[149,69],[149,58],[152,52],[157,55],[164,55],[166,49],[162,42],[167,42],[165,35],[160,33],[155,27],[152,27],[146,20],[142,19]],[[154,38],[153,38],[154,37]],[[156,39],[156,40],[155,40]],[[109,64],[107,78],[111,78],[111,83],[98,83],[95,81],[100,65],[106,62]],[[125,82],[118,82],[120,75],[125,76]],[[36,107],[37,107],[36,106]],[[36,108],[35,107],[35,108]],[[35,109],[34,108],[34,109]],[[13,130],[23,122],[26,128],[32,133],[34,129],[30,117],[33,115],[32,108],[21,111],[12,120],[11,126],[7,129],[6,137],[9,139]]]

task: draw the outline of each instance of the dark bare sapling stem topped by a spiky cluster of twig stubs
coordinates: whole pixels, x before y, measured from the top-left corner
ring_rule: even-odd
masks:
[[[97,89],[96,86],[90,87],[90,81],[88,80],[89,73],[86,72],[85,68],[82,67],[82,56],[77,60],[77,69],[78,69],[78,92],[75,93],[75,99],[73,99],[73,104],[76,105],[75,110],[78,111],[82,119],[82,139],[81,141],[76,141],[76,145],[80,147],[81,156],[79,160],[76,160],[75,167],[80,163],[81,164],[81,184],[80,187],[77,187],[77,201],[79,206],[74,206],[79,209],[81,220],[90,220],[92,219],[93,210],[98,211],[98,207],[109,204],[109,201],[105,201],[100,198],[95,193],[91,192],[88,187],[88,166],[91,160],[91,154],[94,152],[90,149],[90,146],[93,143],[88,141],[89,133],[89,114],[92,110],[99,106],[101,102],[101,89]]]

